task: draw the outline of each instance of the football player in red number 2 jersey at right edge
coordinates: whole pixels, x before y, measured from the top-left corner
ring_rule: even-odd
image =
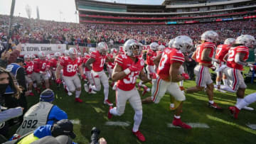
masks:
[[[242,77],[242,69],[244,66],[253,67],[252,64],[246,62],[249,57],[249,48],[252,48],[253,45],[255,45],[255,38],[252,35],[240,35],[235,40],[235,44],[228,50],[228,67],[225,67],[223,72],[228,77],[229,87],[226,86],[222,89],[236,92],[237,104],[244,98],[247,87]],[[247,106],[242,109],[253,110]]]

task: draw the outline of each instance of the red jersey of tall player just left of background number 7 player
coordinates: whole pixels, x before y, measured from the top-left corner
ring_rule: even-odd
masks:
[[[206,48],[210,48],[209,57],[213,57],[213,52],[214,52],[214,49],[215,49],[214,43],[210,43],[210,42],[202,43],[201,45],[198,46],[198,48],[196,48],[196,62],[211,64],[211,62],[206,62],[204,60],[201,60],[203,50],[206,50]]]

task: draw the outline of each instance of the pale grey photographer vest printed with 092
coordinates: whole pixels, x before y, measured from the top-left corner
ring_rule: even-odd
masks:
[[[23,116],[23,122],[16,133],[18,135],[24,135],[30,131],[36,130],[39,126],[46,125],[52,108],[53,104],[45,101],[40,101],[38,104],[31,106]]]

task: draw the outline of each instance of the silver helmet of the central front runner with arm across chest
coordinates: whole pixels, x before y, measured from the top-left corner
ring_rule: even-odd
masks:
[[[128,56],[139,56],[142,52],[142,46],[137,40],[130,39],[124,43],[124,50]],[[138,50],[138,52],[134,54],[134,50]]]

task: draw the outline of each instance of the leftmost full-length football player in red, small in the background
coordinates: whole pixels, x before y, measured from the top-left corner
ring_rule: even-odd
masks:
[[[24,55],[24,59],[25,59],[25,64],[24,68],[26,70],[26,83],[28,84],[28,92],[30,96],[34,96],[33,92],[32,92],[32,88],[33,88],[33,62],[31,61],[31,55],[27,54]]]

